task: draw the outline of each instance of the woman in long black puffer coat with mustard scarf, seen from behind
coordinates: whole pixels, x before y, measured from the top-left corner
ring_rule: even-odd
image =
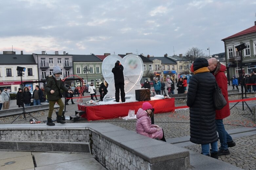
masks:
[[[187,106],[190,113],[190,141],[202,145],[202,154],[218,159],[218,136],[215,127],[213,92],[215,78],[207,68],[205,58],[197,58],[193,63],[194,75],[187,92]]]

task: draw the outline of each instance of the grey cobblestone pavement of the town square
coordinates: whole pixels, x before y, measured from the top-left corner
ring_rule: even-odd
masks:
[[[232,88],[232,86],[231,86]],[[88,96],[86,94],[85,96]],[[89,100],[89,98],[88,98]],[[87,101],[87,100],[85,100]],[[16,101],[14,102],[16,104]],[[74,111],[78,110],[77,102],[71,104],[66,108],[66,116],[74,115]],[[247,104],[253,110],[255,114],[255,101],[248,101]],[[181,106],[181,104],[176,105]],[[232,106],[232,104],[230,104]],[[102,113],[104,114],[104,113]],[[128,113],[127,113],[128,114]],[[40,121],[46,120],[47,116],[36,117]],[[28,120],[29,118],[27,118]],[[155,114],[155,124],[159,125],[164,129],[166,138],[175,138],[189,135],[189,109],[178,109],[173,113]],[[66,120],[67,123],[73,123],[72,120]],[[106,120],[90,121],[81,118],[76,123],[111,123],[113,125],[125,128],[127,130],[135,131],[136,120],[123,120],[122,118],[113,118]],[[17,119],[14,123],[28,123],[24,119]],[[43,123],[43,122],[42,122]],[[247,106],[245,110],[242,110],[242,103],[238,103],[234,108],[231,109],[231,115],[224,119],[226,130],[236,129],[242,127],[256,127],[255,116],[253,116]],[[256,135],[243,136],[234,138],[236,146],[230,148],[230,155],[220,157],[220,160],[234,164],[245,170],[256,169]],[[220,144],[219,144],[220,146]],[[201,152],[201,145],[192,145],[185,147],[187,149]]]

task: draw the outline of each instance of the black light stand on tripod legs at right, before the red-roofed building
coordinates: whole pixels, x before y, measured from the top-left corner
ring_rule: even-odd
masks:
[[[243,81],[243,55],[242,55],[242,50],[243,49],[246,49],[246,44],[243,43],[243,44],[240,44],[238,46],[235,47],[236,48],[236,51],[239,51],[240,52],[240,57],[241,57],[241,92],[242,92],[242,99],[244,99],[244,81]],[[245,94],[246,94],[246,90],[245,90]],[[246,98],[246,97],[245,97]],[[235,107],[235,105],[237,105],[240,101],[236,102],[236,104],[234,104],[234,106],[232,106],[230,108],[230,110]],[[248,109],[250,110],[251,114],[252,114],[252,110],[250,109],[250,107],[248,106],[248,104],[246,103],[246,101],[242,101],[242,105],[243,105],[243,111],[245,110],[244,109],[244,103],[246,104],[246,106],[248,107]]]

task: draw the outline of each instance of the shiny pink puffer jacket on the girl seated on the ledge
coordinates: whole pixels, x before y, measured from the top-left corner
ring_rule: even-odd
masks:
[[[148,116],[147,112],[142,108],[139,108],[137,112],[137,122],[136,122],[136,132],[150,138],[163,138],[163,131],[157,131],[154,125],[151,125],[151,118]]]

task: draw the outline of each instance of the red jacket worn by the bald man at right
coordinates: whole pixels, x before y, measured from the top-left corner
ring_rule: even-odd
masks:
[[[225,117],[230,115],[228,95],[227,95],[227,78],[224,73],[225,70],[226,70],[226,66],[221,64],[220,71],[215,75],[217,84],[220,87],[222,94],[227,101],[226,106],[224,106],[221,110],[216,110],[215,119],[224,119]]]

